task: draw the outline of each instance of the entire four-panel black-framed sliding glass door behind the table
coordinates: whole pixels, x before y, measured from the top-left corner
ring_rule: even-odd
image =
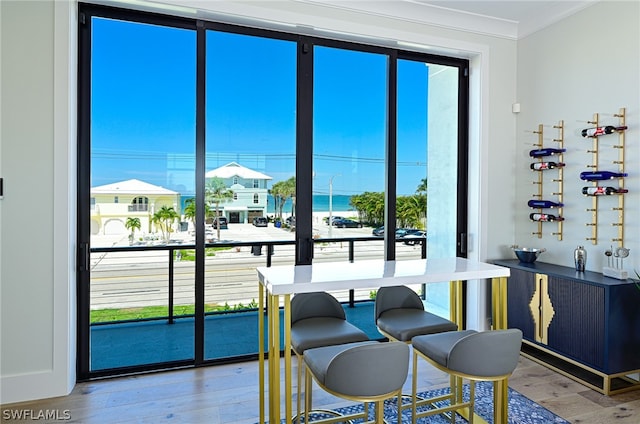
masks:
[[[79,21],[80,380],[255,357],[256,267],[464,255],[466,61]],[[416,290],[447,315],[446,288]]]

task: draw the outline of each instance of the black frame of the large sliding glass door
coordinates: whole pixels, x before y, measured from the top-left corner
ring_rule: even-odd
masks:
[[[388,116],[387,143],[385,151],[385,259],[395,259],[396,222],[396,83],[397,61],[414,60],[456,67],[459,70],[458,85],[458,192],[457,204],[457,256],[466,256],[466,228],[468,205],[468,130],[469,130],[469,61],[427,53],[418,53],[391,47],[373,46],[352,41],[333,40],[324,37],[285,33],[282,31],[252,28],[228,23],[205,21],[201,19],[169,16],[161,13],[135,11],[111,6],[79,3],[78,19],[78,219],[77,219],[77,379],[103,377],[117,373],[112,371],[90,371],[90,270],[88,266],[90,250],[90,219],[93,203],[91,197],[91,19],[100,17],[151,25],[189,29],[196,32],[196,222],[204,222],[205,193],[205,68],[206,32],[224,31],[267,38],[283,39],[297,43],[297,102],[296,102],[296,258],[295,263],[311,264],[313,261],[312,229],[312,168],[313,168],[313,47],[325,46],[363,52],[379,53],[389,58],[388,72]],[[204,225],[196,225],[196,261],[195,261],[195,308],[196,342],[194,360],[172,363],[150,364],[125,370],[126,372],[144,372],[152,369],[164,369],[180,366],[200,366],[210,363],[203,357],[204,351]],[[246,358],[242,358],[246,360]],[[122,370],[120,370],[122,373]]]

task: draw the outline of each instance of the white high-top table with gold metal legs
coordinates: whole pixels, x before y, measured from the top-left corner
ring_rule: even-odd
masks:
[[[450,282],[451,321],[462,329],[463,281],[492,280],[493,329],[507,327],[507,277],[510,269],[464,258],[408,261],[365,260],[324,262],[313,265],[259,267],[259,385],[260,424],[265,423],[265,290],[268,337],[269,423],[279,424],[280,414],[280,313],[284,310],[285,419],[292,421],[291,295],[317,291],[377,289],[387,286]],[[373,319],[373,318],[372,318]],[[507,421],[507,380],[494,385],[494,423]]]

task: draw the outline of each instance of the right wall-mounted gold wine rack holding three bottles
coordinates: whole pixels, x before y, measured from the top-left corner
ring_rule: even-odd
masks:
[[[613,116],[618,119],[617,126],[613,126],[613,125],[601,126],[602,123],[600,121],[600,116],[599,114],[595,113],[593,115],[593,119],[590,121],[587,121],[589,124],[594,125],[595,128],[583,130],[582,135],[583,137],[590,137],[593,139],[591,150],[587,150],[587,153],[591,153],[591,158],[592,158],[591,165],[587,165],[587,168],[591,168],[592,172],[596,172],[600,170],[599,137],[605,136],[607,134],[615,134],[615,133],[618,134],[617,144],[614,144],[613,146],[611,146],[614,149],[618,149],[618,155],[617,155],[618,158],[616,160],[611,161],[612,165],[618,168],[615,174],[621,175],[621,176],[615,176],[612,178],[612,179],[618,180],[618,183],[617,183],[618,186],[613,187],[613,189],[616,189],[617,191],[614,192],[613,190],[608,190],[609,187],[600,187],[599,182],[602,183],[603,181],[605,181],[603,179],[590,180],[590,179],[582,178],[582,175],[585,173],[581,174],[581,178],[586,181],[593,182],[594,184],[592,188],[589,188],[589,187],[583,188],[583,194],[591,197],[591,207],[587,209],[587,212],[591,213],[591,222],[588,222],[586,224],[588,227],[591,227],[591,237],[587,237],[586,238],[587,241],[590,241],[593,244],[598,244],[599,198],[602,197],[603,195],[617,194],[618,205],[611,208],[612,210],[617,211],[617,221],[611,223],[612,226],[617,227],[617,235],[616,237],[613,237],[611,241],[617,243],[619,247],[622,247],[624,243],[624,196],[622,194],[626,193],[626,189],[624,188],[624,176],[626,175],[624,172],[624,159],[625,159],[624,145],[625,145],[625,133],[627,128],[626,127],[627,125],[626,109],[620,108],[618,113],[613,114]],[[605,130],[606,128],[614,128],[614,130],[608,133]],[[589,131],[594,132],[594,134],[589,135]],[[611,172],[611,171],[602,171],[602,172],[604,173],[604,172]],[[588,192],[586,192],[587,190],[590,190],[597,194],[589,195]]]

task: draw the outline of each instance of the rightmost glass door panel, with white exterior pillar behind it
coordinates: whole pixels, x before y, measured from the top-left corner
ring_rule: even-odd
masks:
[[[453,66],[398,60],[399,258],[422,242],[427,258],[456,256],[458,76]],[[424,295],[427,309],[449,317],[448,283],[427,285]]]

